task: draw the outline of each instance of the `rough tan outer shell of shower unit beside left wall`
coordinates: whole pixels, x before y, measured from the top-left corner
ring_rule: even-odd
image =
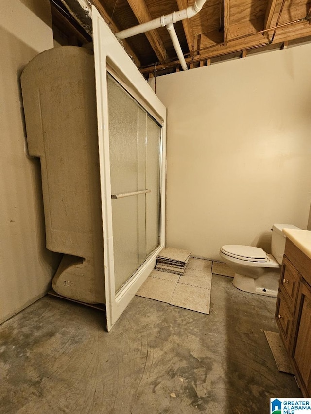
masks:
[[[47,248],[64,253],[52,281],[62,296],[104,303],[104,257],[94,57],[63,46],[21,76],[29,154],[41,161]]]

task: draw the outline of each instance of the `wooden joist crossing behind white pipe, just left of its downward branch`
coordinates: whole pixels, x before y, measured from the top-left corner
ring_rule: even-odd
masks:
[[[127,0],[127,2],[130,5],[139,24],[146,23],[153,19],[149,12],[148,6],[144,0]],[[166,60],[166,49],[158,31],[156,29],[150,30],[149,32],[145,32],[145,35],[152,49],[155,51],[155,54],[158,57],[158,59],[160,61]]]

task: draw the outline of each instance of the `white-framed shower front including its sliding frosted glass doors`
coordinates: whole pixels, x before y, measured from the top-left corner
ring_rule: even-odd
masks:
[[[164,247],[166,109],[92,13],[109,331]]]

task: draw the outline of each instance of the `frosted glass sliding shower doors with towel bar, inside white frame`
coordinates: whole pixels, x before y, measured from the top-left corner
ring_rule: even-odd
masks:
[[[159,246],[161,127],[107,77],[115,293]]]

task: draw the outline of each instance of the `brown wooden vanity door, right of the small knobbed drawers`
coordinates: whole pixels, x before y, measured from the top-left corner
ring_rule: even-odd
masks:
[[[311,397],[311,288],[301,281],[297,302],[297,331],[293,362],[304,397]]]

